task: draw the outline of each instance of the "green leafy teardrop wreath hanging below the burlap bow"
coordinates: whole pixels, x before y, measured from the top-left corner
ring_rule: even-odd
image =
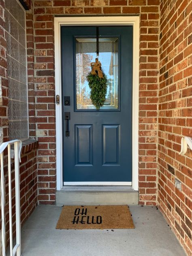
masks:
[[[104,105],[107,94],[107,76],[103,73],[102,78],[99,77],[97,73],[96,75],[92,75],[92,73],[90,73],[87,75],[87,81],[91,89],[90,99],[93,105],[96,107],[96,110],[99,110],[100,107]]]

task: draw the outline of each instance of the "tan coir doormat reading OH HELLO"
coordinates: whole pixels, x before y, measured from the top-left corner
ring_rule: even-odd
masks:
[[[64,206],[57,229],[134,228],[127,205]]]

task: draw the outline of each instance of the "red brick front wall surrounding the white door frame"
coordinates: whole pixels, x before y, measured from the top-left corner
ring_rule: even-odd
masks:
[[[55,203],[55,14],[140,14],[139,193],[156,205],[159,0],[34,0],[34,88],[38,200]]]

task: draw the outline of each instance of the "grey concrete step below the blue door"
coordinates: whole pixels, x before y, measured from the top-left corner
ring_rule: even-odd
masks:
[[[138,205],[139,193],[129,186],[65,186],[56,205]]]

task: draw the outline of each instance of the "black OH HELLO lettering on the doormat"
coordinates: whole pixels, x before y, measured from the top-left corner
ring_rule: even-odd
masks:
[[[89,216],[87,215],[87,208],[76,208],[74,212],[73,224],[102,224],[101,216]],[[79,216],[81,215],[81,216]],[[84,216],[82,216],[84,215]],[[79,218],[81,217],[81,218]]]

